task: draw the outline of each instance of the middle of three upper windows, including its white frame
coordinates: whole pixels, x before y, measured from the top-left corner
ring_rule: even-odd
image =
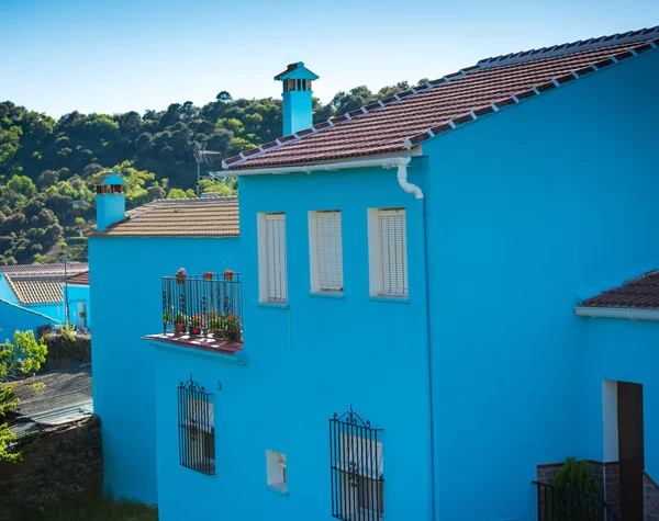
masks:
[[[331,245],[322,243],[319,234],[319,222],[325,216],[337,217],[338,231],[331,238]],[[344,291],[343,274],[343,224],[338,209],[309,212],[309,262],[312,293],[342,294]]]

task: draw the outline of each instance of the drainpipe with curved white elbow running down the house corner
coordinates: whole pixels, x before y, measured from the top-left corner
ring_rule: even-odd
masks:
[[[421,259],[420,271],[421,271],[421,280],[423,282],[423,290],[421,297],[423,298],[423,314],[424,314],[424,329],[423,333],[423,342],[426,348],[426,359],[424,361],[424,371],[427,382],[427,394],[424,399],[424,409],[425,409],[425,418],[424,423],[428,426],[427,430],[427,446],[429,452],[428,463],[428,477],[429,477],[429,492],[431,492],[431,520],[436,519],[436,498],[435,498],[435,433],[434,433],[434,410],[433,410],[433,351],[432,351],[432,342],[431,342],[431,304],[429,304],[429,291],[428,291],[428,257],[427,257],[427,246],[426,246],[426,215],[425,215],[425,195],[423,190],[416,184],[412,184],[407,181],[407,166],[410,165],[411,158],[395,158],[394,166],[398,167],[398,181],[405,192],[411,193],[416,197],[416,206],[418,209],[418,258]]]

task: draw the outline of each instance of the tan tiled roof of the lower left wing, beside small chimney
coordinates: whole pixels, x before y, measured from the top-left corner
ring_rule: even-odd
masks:
[[[238,237],[238,200],[157,200],[92,237]]]

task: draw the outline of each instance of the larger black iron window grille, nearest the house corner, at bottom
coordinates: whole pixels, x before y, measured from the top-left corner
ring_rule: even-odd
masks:
[[[382,443],[370,421],[350,409],[330,420],[332,517],[346,521],[384,519]]]

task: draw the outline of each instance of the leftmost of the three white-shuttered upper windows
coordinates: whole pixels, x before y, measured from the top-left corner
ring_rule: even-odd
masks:
[[[259,214],[258,225],[260,301],[286,303],[286,215]]]

